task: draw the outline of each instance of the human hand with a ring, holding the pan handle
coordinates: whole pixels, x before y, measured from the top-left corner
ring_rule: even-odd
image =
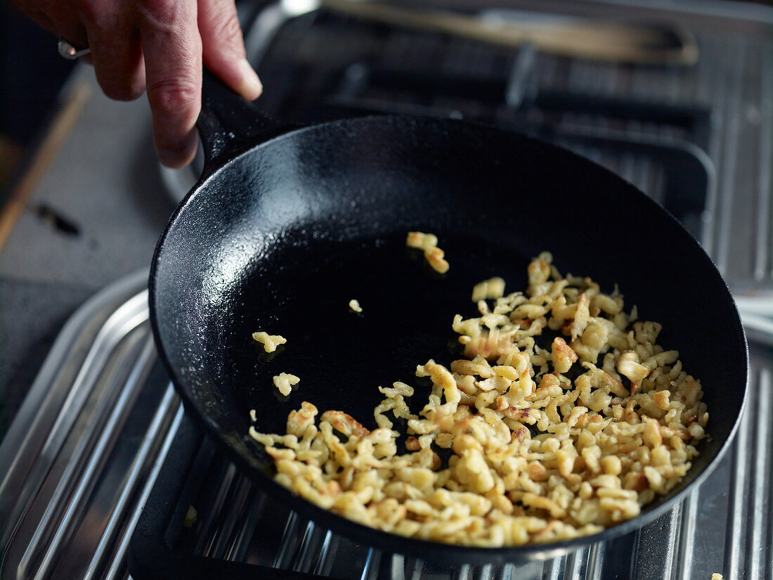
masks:
[[[108,97],[148,94],[153,142],[169,167],[193,159],[202,64],[248,101],[263,87],[247,63],[234,0],[14,0],[81,49]]]

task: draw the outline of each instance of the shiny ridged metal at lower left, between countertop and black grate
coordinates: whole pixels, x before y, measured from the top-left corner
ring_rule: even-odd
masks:
[[[73,316],[0,447],[2,578],[125,572],[116,555],[182,417],[152,373],[146,279],[107,288]]]

